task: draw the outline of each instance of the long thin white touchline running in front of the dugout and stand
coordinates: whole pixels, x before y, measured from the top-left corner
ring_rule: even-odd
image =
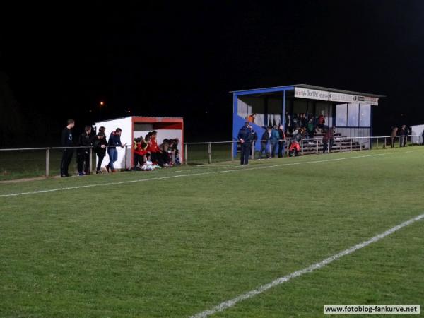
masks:
[[[82,186],[64,187],[64,188],[47,189],[47,190],[37,190],[37,191],[31,191],[31,192],[0,194],[0,198],[4,198],[4,197],[8,197],[8,196],[23,196],[23,195],[28,195],[28,194],[40,194],[40,193],[66,191],[66,190],[74,190],[74,189],[86,189],[86,188],[100,187],[100,186],[105,187],[105,186],[111,186],[111,185],[117,185],[117,184],[128,184],[128,183],[135,183],[135,182],[146,182],[146,181],[155,181],[155,180],[163,180],[163,179],[174,179],[174,178],[179,178],[179,177],[193,177],[193,176],[196,176],[196,175],[215,175],[215,174],[218,174],[218,173],[259,170],[259,169],[267,169],[267,168],[272,168],[272,167],[285,167],[285,166],[290,166],[290,165],[309,165],[311,163],[328,163],[328,162],[331,162],[331,161],[368,158],[368,157],[377,157],[379,155],[394,155],[394,154],[397,154],[397,153],[377,153],[375,155],[357,155],[357,156],[354,156],[354,157],[334,158],[334,159],[326,159],[326,160],[302,161],[300,163],[281,163],[281,164],[278,164],[278,165],[249,167],[249,168],[246,168],[246,169],[243,169],[242,166],[240,166],[240,165],[238,165],[238,166],[236,165],[233,170],[218,170],[218,171],[199,172],[199,173],[187,173],[187,174],[184,174],[184,175],[172,175],[172,176],[167,176],[167,177],[154,177],[154,178],[146,178],[146,179],[119,181],[119,182],[86,184],[86,185],[82,185]],[[183,171],[183,170],[181,170],[181,171]]]

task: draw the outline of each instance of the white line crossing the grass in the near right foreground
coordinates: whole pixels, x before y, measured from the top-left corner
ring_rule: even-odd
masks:
[[[336,261],[337,259],[340,259],[341,257],[351,254],[358,249],[362,249],[363,247],[366,247],[367,245],[370,245],[371,243],[377,242],[379,240],[382,240],[382,238],[386,237],[387,235],[390,235],[393,232],[396,232],[397,230],[400,230],[401,228],[404,228],[407,225],[410,225],[412,223],[415,223],[416,221],[424,218],[424,214],[421,214],[420,216],[416,216],[415,218],[411,218],[411,220],[407,220],[404,223],[401,223],[399,225],[396,225],[394,228],[391,228],[387,230],[386,232],[382,232],[379,235],[375,235],[375,237],[370,238],[370,240],[367,240],[365,242],[359,243],[357,245],[353,245],[353,247],[349,247],[348,249],[345,249],[342,252],[339,252],[337,254],[332,255],[331,257],[328,257],[322,261],[319,261],[318,263],[312,264],[311,266],[305,267],[305,269],[300,269],[299,271],[295,271],[293,273],[290,273],[286,276],[277,278],[274,281],[271,281],[271,283],[267,283],[266,285],[261,285],[258,288],[254,290],[250,290],[247,293],[238,295],[235,298],[232,298],[230,300],[226,300],[225,302],[221,302],[219,305],[211,308],[210,310],[205,310],[204,312],[199,312],[199,314],[195,314],[194,316],[191,316],[191,318],[203,318],[208,317],[211,314],[216,314],[216,312],[221,312],[225,309],[228,309],[234,305],[237,304],[237,302],[241,302],[242,300],[245,300],[247,298],[252,298],[255,295],[259,295],[261,293],[264,293],[264,291],[269,290],[270,288],[273,288],[277,285],[281,285],[282,283],[290,281],[290,279],[302,276],[305,273],[310,273],[316,269],[321,269],[322,267],[332,263],[333,261]]]

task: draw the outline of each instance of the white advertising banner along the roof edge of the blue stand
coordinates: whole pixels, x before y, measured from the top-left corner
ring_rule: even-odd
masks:
[[[361,95],[351,95],[326,90],[312,90],[309,88],[295,87],[296,98],[308,98],[310,100],[326,100],[329,102],[364,103],[378,105],[378,98]]]

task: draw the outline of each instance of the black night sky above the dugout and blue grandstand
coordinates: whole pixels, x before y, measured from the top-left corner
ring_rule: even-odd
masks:
[[[230,139],[229,90],[294,83],[387,95],[375,134],[424,122],[423,1],[182,2],[2,8],[25,134],[56,141],[105,100],[103,118],[183,116],[189,141]]]

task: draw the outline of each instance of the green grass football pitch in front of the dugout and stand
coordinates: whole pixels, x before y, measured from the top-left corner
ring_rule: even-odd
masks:
[[[211,309],[423,214],[423,157],[408,147],[0,184],[0,316]],[[424,310],[423,233],[421,220],[213,317]]]

